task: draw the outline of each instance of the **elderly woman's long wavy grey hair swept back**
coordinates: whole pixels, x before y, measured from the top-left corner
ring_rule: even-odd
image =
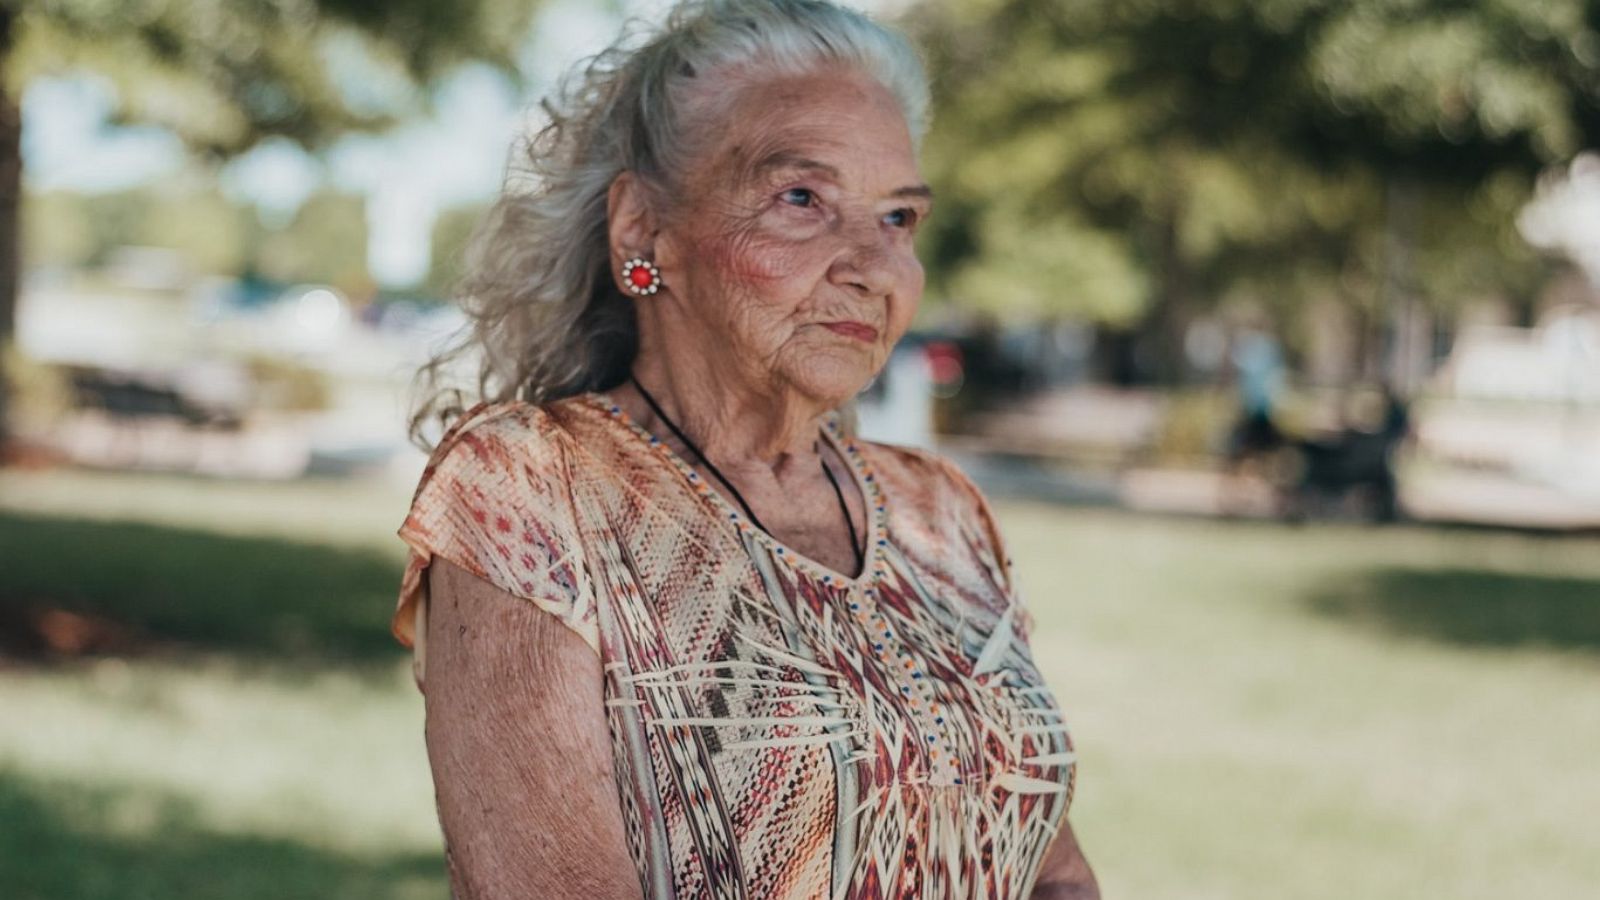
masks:
[[[643,38],[640,42],[640,38]],[[610,277],[606,194],[634,171],[670,208],[704,135],[742,86],[850,66],[899,102],[914,146],[928,125],[917,50],[864,13],[826,0],[683,0],[651,29],[581,61],[541,101],[547,123],[512,157],[454,287],[467,315],[453,346],[418,370],[410,439],[448,428],[472,399],[442,373],[478,356],[477,399],[546,404],[627,378],[638,348],[632,301]]]

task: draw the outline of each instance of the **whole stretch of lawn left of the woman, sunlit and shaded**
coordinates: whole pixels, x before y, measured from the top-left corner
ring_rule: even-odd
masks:
[[[389,636],[403,490],[0,482],[0,628],[51,609],[133,637],[0,668],[26,724],[0,730],[6,897],[448,894],[422,703]]]

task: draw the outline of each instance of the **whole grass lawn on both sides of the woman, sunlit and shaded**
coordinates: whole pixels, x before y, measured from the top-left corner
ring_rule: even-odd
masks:
[[[0,613],[141,647],[0,668],[5,897],[446,897],[406,500],[0,474]],[[1600,540],[998,509],[1107,897],[1595,897]]]

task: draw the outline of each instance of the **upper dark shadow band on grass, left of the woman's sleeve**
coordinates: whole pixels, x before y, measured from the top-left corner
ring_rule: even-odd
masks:
[[[0,629],[48,609],[96,617],[152,644],[245,657],[394,661],[405,653],[389,634],[402,569],[397,556],[378,551],[0,512]]]

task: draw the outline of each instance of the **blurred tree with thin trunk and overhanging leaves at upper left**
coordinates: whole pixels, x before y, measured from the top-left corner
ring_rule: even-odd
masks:
[[[117,122],[163,125],[205,159],[270,136],[320,147],[430,101],[480,61],[520,78],[530,0],[0,0],[0,346],[16,317],[21,112],[29,80],[99,72]],[[0,444],[6,391],[0,384]]]

